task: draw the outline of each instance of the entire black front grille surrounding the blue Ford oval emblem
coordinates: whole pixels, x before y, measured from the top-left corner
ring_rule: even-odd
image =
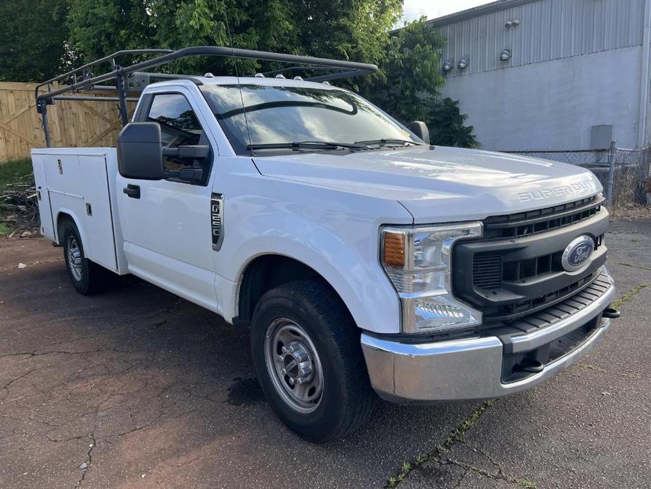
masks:
[[[594,196],[486,218],[483,237],[453,249],[455,296],[480,310],[484,323],[509,323],[576,294],[606,261],[608,213],[602,202]],[[581,235],[593,237],[595,251],[581,271],[569,273],[562,254]]]

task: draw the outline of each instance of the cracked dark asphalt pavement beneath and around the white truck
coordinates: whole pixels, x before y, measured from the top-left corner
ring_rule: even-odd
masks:
[[[135,278],[82,297],[61,249],[1,239],[0,487],[649,488],[651,222],[607,244],[622,318],[578,364],[495,402],[381,402],[312,445],[263,400],[247,330]]]

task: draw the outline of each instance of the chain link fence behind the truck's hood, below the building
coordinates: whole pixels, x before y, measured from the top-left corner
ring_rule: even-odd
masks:
[[[645,205],[651,190],[651,147],[577,151],[506,151],[588,168],[600,180],[614,209]]]

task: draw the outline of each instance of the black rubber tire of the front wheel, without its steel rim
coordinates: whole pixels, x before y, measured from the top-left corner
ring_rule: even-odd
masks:
[[[265,352],[274,345],[271,340],[265,343],[267,330],[272,333],[274,323],[285,319],[307,333],[322,367],[322,394],[309,413],[297,411],[284,400],[286,395],[279,385],[282,376],[272,379],[277,374],[267,364]],[[369,381],[360,330],[339,296],[322,280],[296,280],[263,295],[253,312],[251,349],[267,401],[301,437],[312,442],[344,438],[372,413],[377,395]]]

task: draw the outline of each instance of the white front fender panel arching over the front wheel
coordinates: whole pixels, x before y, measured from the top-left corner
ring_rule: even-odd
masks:
[[[320,273],[360,328],[399,332],[400,303],[379,262],[379,228],[411,223],[403,206],[260,174],[231,173],[216,182],[215,192],[225,193],[224,242],[214,254],[222,316],[236,316],[246,266],[258,256],[279,254]]]

